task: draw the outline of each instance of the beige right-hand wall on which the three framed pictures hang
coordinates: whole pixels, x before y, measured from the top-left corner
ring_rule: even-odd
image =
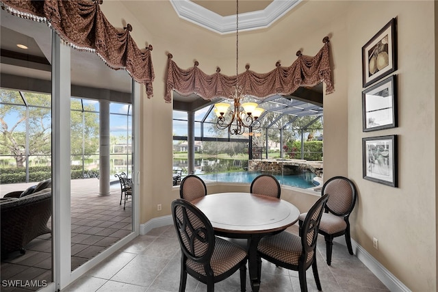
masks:
[[[393,17],[398,22],[399,126],[363,133],[361,47]],[[359,189],[352,236],[409,289],[436,291],[434,2],[355,2],[346,19],[348,176]],[[363,180],[362,137],[393,134],[399,138],[399,187]]]

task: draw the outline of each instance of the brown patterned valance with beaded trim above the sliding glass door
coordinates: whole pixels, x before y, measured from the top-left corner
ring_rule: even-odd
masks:
[[[146,93],[151,98],[155,78],[152,46],[140,50],[129,34],[131,25],[118,31],[101,12],[99,2],[3,0],[0,4],[11,14],[47,23],[70,46],[96,53],[110,68],[127,70],[135,81],[146,85]]]

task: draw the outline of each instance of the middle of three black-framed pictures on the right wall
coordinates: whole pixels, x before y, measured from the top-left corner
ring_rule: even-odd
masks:
[[[396,75],[362,92],[363,131],[397,127]]]

